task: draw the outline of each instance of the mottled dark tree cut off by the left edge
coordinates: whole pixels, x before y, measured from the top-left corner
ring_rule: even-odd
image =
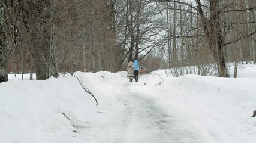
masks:
[[[19,1],[1,1],[1,48],[0,48],[0,73],[4,74],[4,79],[8,80],[8,68],[7,63],[11,55],[11,60],[14,61],[14,71],[19,69],[20,56],[17,51],[20,51],[20,21],[22,8]],[[8,54],[7,54],[8,53]],[[8,56],[7,56],[8,55]],[[17,56],[18,55],[18,56]]]

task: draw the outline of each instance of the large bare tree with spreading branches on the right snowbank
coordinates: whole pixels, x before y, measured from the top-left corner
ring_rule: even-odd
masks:
[[[170,2],[174,4],[173,11],[180,10],[186,11],[188,14],[194,14],[195,16],[200,16],[201,18],[201,25],[197,25],[197,28],[203,28],[204,35],[192,35],[192,36],[199,36],[204,38],[203,41],[207,43],[207,47],[210,49],[212,53],[213,60],[218,67],[218,76],[219,77],[228,77],[227,72],[227,65],[226,65],[226,53],[225,48],[228,45],[234,42],[238,42],[240,40],[245,40],[244,38],[249,38],[255,33],[255,29],[252,29],[251,32],[245,32],[242,36],[237,39],[230,39],[227,41],[227,33],[231,32],[230,29],[233,28],[233,24],[237,22],[228,21],[229,23],[233,23],[230,25],[225,25],[225,21],[222,20],[224,15],[230,15],[236,11],[251,11],[254,10],[253,7],[246,7],[243,6],[243,2],[240,3],[239,7],[232,8],[231,6],[234,5],[234,1],[222,1],[222,0],[209,0],[204,1],[201,4],[200,0],[195,1],[194,3],[188,3],[186,1],[173,1],[173,0],[159,0],[158,2]],[[186,5],[186,7],[177,7],[175,5],[182,4]],[[186,9],[187,8],[187,9]],[[245,17],[245,15],[243,16]],[[243,21],[239,24],[250,24],[251,22]],[[238,23],[237,23],[238,24]],[[245,29],[248,29],[245,25]],[[173,39],[176,37],[186,37],[189,38],[190,36],[187,35],[179,35],[174,36]],[[203,42],[201,41],[201,42]],[[197,41],[198,42],[198,41]],[[182,42],[181,42],[182,43]],[[182,46],[180,46],[182,49]],[[251,53],[251,52],[249,52]],[[249,57],[249,55],[246,55]]]

